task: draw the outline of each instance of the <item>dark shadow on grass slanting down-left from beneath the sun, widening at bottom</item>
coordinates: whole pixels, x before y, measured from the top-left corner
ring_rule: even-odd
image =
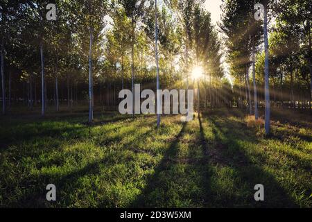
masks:
[[[175,137],[171,146],[165,151],[164,157],[155,168],[155,173],[147,180],[147,185],[137,198],[130,203],[130,207],[156,207],[159,205],[158,201],[164,200],[166,205],[168,198],[166,197],[166,187],[162,184],[161,174],[170,171],[171,167],[175,164],[177,157],[178,146],[180,139],[184,133],[187,123],[183,123],[180,133]]]

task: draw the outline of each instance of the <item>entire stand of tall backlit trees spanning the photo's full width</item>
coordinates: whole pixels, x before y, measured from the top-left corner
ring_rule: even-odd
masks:
[[[29,108],[41,103],[42,115],[46,101],[56,111],[61,102],[71,108],[87,101],[92,121],[95,103],[115,107],[119,90],[133,90],[135,83],[142,89],[196,87],[193,67],[204,70],[199,106],[237,105],[257,119],[264,105],[267,133],[270,98],[274,107],[311,108],[308,0],[223,1],[224,42],[204,2],[1,1],[3,114],[13,101]],[[48,3],[57,6],[56,21],[46,20]],[[259,21],[257,3],[265,6]],[[224,53],[232,86],[220,62]],[[160,115],[157,120],[159,126]]]

